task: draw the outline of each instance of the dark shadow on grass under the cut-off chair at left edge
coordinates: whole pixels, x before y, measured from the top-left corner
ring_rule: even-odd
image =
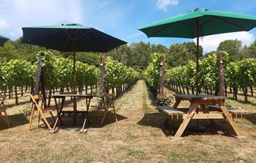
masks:
[[[0,123],[3,124],[3,125],[0,126],[0,130],[10,129],[10,128],[13,128],[13,127],[16,127],[16,126],[22,126],[22,125],[25,125],[25,124],[28,123],[28,119],[22,113],[14,114],[14,115],[8,115],[8,119],[9,119],[9,122],[10,122],[10,127],[8,127],[5,122],[0,120]]]

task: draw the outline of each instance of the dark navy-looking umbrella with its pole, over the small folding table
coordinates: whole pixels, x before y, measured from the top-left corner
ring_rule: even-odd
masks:
[[[73,52],[73,87],[76,91],[76,52],[109,52],[127,42],[79,24],[22,28],[22,43],[61,52]]]

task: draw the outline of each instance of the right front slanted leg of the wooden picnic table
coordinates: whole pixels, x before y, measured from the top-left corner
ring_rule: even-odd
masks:
[[[237,123],[235,123],[231,114],[228,112],[228,108],[222,105],[222,103],[219,103],[218,105],[219,105],[219,108],[222,110],[223,114],[225,115],[226,120],[228,120],[228,123],[230,123],[231,127],[234,129],[234,132],[236,133],[237,138],[247,138],[246,136],[242,135],[240,129],[237,126]]]

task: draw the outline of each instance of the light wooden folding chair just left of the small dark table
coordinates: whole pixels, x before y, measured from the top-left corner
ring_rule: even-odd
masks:
[[[31,99],[32,99],[32,106],[31,106],[31,117],[29,120],[29,126],[28,126],[28,131],[31,130],[31,124],[32,124],[32,120],[33,120],[33,116],[35,114],[35,112],[38,112],[38,121],[37,121],[37,126],[40,126],[40,120],[43,121],[43,123],[46,124],[46,126],[48,127],[49,130],[52,130],[52,127],[50,126],[48,120],[46,120],[46,116],[45,113],[49,113],[52,116],[53,120],[56,120],[55,117],[52,114],[52,111],[55,110],[55,108],[45,108],[45,100],[43,99],[43,96],[41,94],[38,95],[30,95]],[[42,119],[41,119],[42,117]]]

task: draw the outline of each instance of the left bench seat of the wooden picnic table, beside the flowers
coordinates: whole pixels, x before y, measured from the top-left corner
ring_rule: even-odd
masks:
[[[176,108],[172,108],[171,106],[157,106],[159,112],[167,114],[171,120],[174,119],[183,119],[183,111],[178,111]]]

